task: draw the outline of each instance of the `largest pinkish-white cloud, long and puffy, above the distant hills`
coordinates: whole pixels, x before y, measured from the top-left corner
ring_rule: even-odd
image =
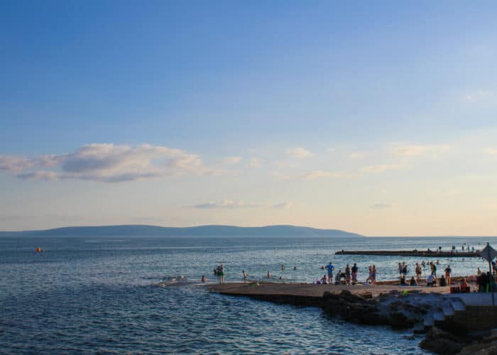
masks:
[[[0,158],[1,170],[22,171],[40,167],[54,170],[24,171],[16,176],[22,179],[119,182],[186,173],[195,175],[216,173],[205,168],[198,155],[149,144],[132,147],[93,143],[78,148],[74,153],[43,155],[34,159]]]

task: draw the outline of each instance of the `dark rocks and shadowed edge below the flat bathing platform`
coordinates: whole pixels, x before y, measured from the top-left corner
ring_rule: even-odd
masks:
[[[224,293],[219,290],[215,292]],[[297,307],[320,307],[331,317],[363,325],[386,325],[392,329],[413,329],[414,334],[425,334],[420,347],[436,354],[497,354],[497,333],[470,332],[452,318],[443,315],[444,307],[454,302],[453,297],[442,293],[424,293],[422,290],[391,290],[388,293],[339,293],[324,291],[322,296],[289,294],[236,294]],[[430,318],[431,317],[431,318]],[[432,320],[432,322],[427,322]]]

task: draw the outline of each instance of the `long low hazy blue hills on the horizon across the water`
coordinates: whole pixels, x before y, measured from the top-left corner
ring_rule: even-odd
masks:
[[[0,236],[329,236],[363,237],[339,229],[307,226],[66,226],[40,231],[2,231]]]

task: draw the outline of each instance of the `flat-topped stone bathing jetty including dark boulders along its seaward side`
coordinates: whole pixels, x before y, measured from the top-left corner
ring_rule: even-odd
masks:
[[[478,349],[484,349],[481,344],[497,349],[497,334],[495,339],[483,338],[488,336],[488,332],[475,334],[472,332],[474,329],[464,327],[464,322],[454,322],[454,309],[457,307],[452,305],[458,301],[448,295],[449,288],[378,285],[345,289],[333,285],[228,283],[211,285],[209,289],[225,295],[246,296],[297,307],[320,307],[331,317],[356,324],[412,328],[413,337],[414,334],[425,334],[420,346],[437,354],[458,354],[459,351],[471,354],[467,349],[476,349],[478,344]],[[459,313],[469,312],[459,304]]]

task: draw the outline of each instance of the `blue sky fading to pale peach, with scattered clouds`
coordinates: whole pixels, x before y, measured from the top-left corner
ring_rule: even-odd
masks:
[[[497,235],[495,1],[2,1],[0,230]]]

